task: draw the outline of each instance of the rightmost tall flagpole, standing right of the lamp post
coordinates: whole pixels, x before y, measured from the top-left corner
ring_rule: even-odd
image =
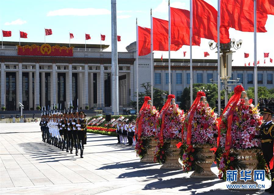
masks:
[[[254,0],[254,99],[258,105],[258,80],[257,80],[257,1]],[[256,62],[256,63],[255,63]]]

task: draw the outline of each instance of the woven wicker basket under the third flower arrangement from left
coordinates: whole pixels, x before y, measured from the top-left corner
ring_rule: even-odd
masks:
[[[215,161],[215,154],[214,151],[210,151],[212,148],[212,144],[197,144],[193,146],[195,148],[200,148],[202,151],[202,158],[204,160],[203,163],[198,163],[197,166],[195,166],[194,172],[190,175],[190,177],[193,178],[215,178],[217,175],[215,175],[211,171],[211,165]],[[202,168],[202,172],[197,170],[197,167]]]

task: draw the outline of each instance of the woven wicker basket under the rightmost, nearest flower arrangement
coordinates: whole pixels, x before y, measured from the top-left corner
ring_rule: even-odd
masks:
[[[258,165],[257,153],[259,149],[252,148],[252,149],[231,149],[231,151],[237,155],[239,155],[239,159],[242,163],[246,166],[246,169],[251,170],[251,180],[240,180],[240,171],[238,170],[237,174],[237,181],[232,182],[231,184],[256,184],[257,182],[253,179],[253,172]],[[251,190],[251,189],[237,189],[237,190]],[[256,189],[253,189],[256,190]]]

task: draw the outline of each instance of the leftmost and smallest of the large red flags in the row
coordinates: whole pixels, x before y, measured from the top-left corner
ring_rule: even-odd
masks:
[[[151,30],[138,26],[138,55],[148,55],[151,50]]]

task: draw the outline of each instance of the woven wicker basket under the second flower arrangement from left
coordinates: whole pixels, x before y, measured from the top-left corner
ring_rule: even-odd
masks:
[[[179,139],[164,139],[164,144],[168,144],[169,151],[166,153],[165,163],[160,167],[162,169],[181,169],[183,168],[179,162],[181,149],[177,148],[176,144]]]

